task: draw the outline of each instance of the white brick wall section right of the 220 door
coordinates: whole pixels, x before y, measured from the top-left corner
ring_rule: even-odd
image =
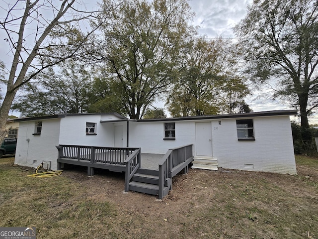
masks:
[[[236,119],[224,119],[213,130],[213,156],[219,167],[296,174],[292,131],[288,116],[255,118],[255,141],[239,141]],[[214,127],[213,127],[214,128]]]

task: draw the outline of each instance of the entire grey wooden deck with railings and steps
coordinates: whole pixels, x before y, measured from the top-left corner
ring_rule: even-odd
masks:
[[[125,172],[125,191],[158,195],[162,199],[172,187],[172,177],[188,171],[193,161],[192,144],[168,149],[166,154],[141,153],[141,148],[59,145],[58,169],[64,164],[87,167],[92,176],[95,168]]]

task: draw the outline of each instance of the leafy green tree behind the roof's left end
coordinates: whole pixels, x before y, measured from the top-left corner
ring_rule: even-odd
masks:
[[[59,71],[55,72],[57,68]],[[90,86],[90,74],[85,65],[69,59],[27,83],[24,87],[27,94],[17,97],[11,109],[18,110],[22,116],[86,113]]]

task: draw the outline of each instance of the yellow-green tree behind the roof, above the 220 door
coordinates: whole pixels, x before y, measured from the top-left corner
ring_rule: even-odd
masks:
[[[167,98],[172,116],[233,113],[239,106],[234,104],[248,94],[247,86],[236,76],[230,44],[222,38],[189,41],[183,59],[180,80],[174,83]]]

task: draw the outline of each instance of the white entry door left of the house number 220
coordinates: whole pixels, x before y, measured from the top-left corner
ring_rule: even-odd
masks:
[[[211,122],[195,123],[196,155],[212,156]]]

